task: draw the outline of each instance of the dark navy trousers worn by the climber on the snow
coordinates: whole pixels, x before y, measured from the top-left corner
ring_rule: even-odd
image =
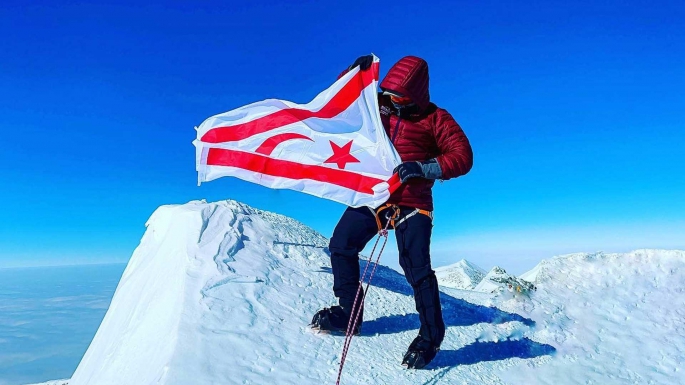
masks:
[[[386,209],[378,217],[386,224]],[[414,211],[401,207],[400,219]],[[416,311],[419,313],[419,334],[436,345],[445,337],[445,323],[440,307],[440,292],[435,272],[430,264],[431,218],[416,214],[395,229],[400,266],[407,282],[414,290]],[[359,253],[378,234],[375,215],[368,207],[348,208],[333,231],[329,245],[333,268],[333,292],[340,306],[351,309],[359,287]],[[378,252],[378,251],[377,251]]]

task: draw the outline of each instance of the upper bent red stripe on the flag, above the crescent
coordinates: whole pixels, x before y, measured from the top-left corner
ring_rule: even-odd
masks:
[[[308,118],[330,119],[345,111],[359,98],[359,95],[369,84],[374,80],[378,80],[378,72],[379,63],[373,63],[371,68],[366,71],[359,71],[319,111],[288,108],[235,126],[212,128],[200,140],[205,143],[231,142],[275,130]]]

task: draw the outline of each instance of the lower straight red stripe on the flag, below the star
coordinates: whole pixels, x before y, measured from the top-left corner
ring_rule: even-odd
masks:
[[[248,152],[210,148],[208,166],[230,166],[279,178],[310,179],[330,183],[364,194],[373,195],[373,187],[385,182],[382,179],[356,174],[350,171],[306,165],[289,160],[273,159]]]

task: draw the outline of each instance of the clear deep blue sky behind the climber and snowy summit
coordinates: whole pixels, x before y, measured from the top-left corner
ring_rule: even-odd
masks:
[[[126,261],[156,207],[193,199],[330,235],[339,204],[198,188],[193,127],[308,102],[369,52],[382,75],[425,58],[474,148],[434,188],[435,265],[685,248],[682,2],[26,3],[0,5],[0,266]]]

